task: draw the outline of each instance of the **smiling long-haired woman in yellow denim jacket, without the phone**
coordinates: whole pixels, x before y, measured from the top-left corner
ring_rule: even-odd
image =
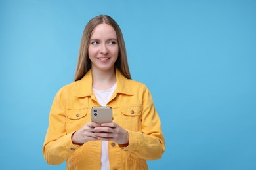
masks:
[[[91,122],[91,108],[110,106],[113,122]],[[66,169],[148,169],[165,150],[148,88],[131,80],[121,29],[96,16],[83,32],[75,82],[61,88],[43,144],[47,163]]]

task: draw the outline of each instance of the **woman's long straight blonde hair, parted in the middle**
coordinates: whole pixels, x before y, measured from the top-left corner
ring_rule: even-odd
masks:
[[[95,29],[97,25],[100,25],[102,23],[111,25],[116,31],[117,42],[119,46],[119,54],[115,63],[115,67],[119,69],[119,71],[123,74],[123,76],[125,76],[128,79],[131,79],[129,65],[127,61],[125,41],[123,40],[123,34],[121,32],[121,29],[119,25],[117,25],[115,20],[113,20],[110,16],[100,15],[91,19],[87,23],[83,31],[83,36],[82,36],[81,44],[79,48],[77,67],[75,71],[75,81],[81,80],[81,78],[85,76],[87,71],[91,69],[91,60],[89,59],[89,56],[88,56],[89,41],[91,38],[91,34],[93,32],[93,29]]]

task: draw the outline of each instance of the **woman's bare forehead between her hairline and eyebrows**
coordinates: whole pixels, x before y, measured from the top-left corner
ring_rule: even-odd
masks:
[[[91,39],[116,39],[116,31],[111,25],[108,24],[100,24],[93,29],[91,34]]]

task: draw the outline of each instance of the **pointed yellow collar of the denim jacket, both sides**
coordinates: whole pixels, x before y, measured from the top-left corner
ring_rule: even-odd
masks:
[[[133,90],[130,86],[130,82],[122,73],[116,69],[116,82],[117,87],[114,93],[123,93],[126,95],[133,95]],[[77,81],[77,90],[75,92],[76,97],[87,97],[93,95],[93,76],[91,69],[85,76]]]

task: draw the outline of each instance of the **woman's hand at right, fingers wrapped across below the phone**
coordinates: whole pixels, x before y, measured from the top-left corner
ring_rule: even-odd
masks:
[[[115,122],[101,124],[95,127],[94,132],[98,140],[129,144],[128,132]]]

